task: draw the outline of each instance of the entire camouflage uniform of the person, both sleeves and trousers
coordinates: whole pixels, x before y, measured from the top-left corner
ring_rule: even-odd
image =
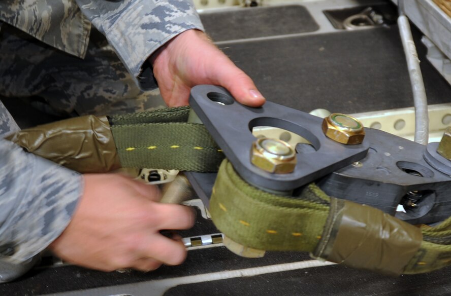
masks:
[[[156,87],[148,57],[203,30],[190,0],[2,0],[0,25],[0,95],[63,116],[161,105],[157,90],[142,90]],[[14,129],[0,102],[0,135]],[[66,228],[81,190],[79,174],[0,139],[0,281],[25,272]]]

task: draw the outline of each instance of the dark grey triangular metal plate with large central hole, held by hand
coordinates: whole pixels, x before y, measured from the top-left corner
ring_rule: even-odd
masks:
[[[222,98],[225,105],[212,97]],[[229,104],[230,103],[230,104]],[[366,156],[368,143],[344,145],[324,135],[323,119],[272,102],[259,108],[235,101],[222,87],[198,85],[191,89],[189,104],[214,140],[221,147],[238,174],[247,182],[275,191],[289,191],[336,171]],[[296,169],[288,174],[265,172],[250,162],[255,126],[272,126],[306,138],[316,149],[308,156],[297,155]],[[312,161],[314,160],[314,161]]]

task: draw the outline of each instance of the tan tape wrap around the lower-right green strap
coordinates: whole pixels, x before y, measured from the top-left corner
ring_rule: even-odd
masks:
[[[349,267],[400,275],[420,249],[421,229],[370,206],[331,199],[314,256]]]

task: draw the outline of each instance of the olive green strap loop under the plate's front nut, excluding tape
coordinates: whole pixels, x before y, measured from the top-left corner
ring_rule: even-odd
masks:
[[[329,213],[329,198],[315,185],[301,197],[256,189],[224,160],[210,200],[215,226],[233,241],[262,250],[313,251]]]

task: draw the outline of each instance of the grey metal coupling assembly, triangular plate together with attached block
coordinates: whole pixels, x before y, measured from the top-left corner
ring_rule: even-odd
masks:
[[[297,190],[315,181],[328,195],[368,204],[412,224],[451,215],[451,177],[430,165],[426,146],[371,128],[359,145],[326,138],[321,119],[267,102],[251,108],[216,86],[192,89],[190,104],[240,176],[262,189]],[[298,150],[296,170],[271,174],[250,163],[254,126],[274,126],[301,135],[314,149]],[[451,166],[451,162],[448,164]],[[214,174],[188,177],[208,205]],[[398,205],[405,212],[396,212]]]

